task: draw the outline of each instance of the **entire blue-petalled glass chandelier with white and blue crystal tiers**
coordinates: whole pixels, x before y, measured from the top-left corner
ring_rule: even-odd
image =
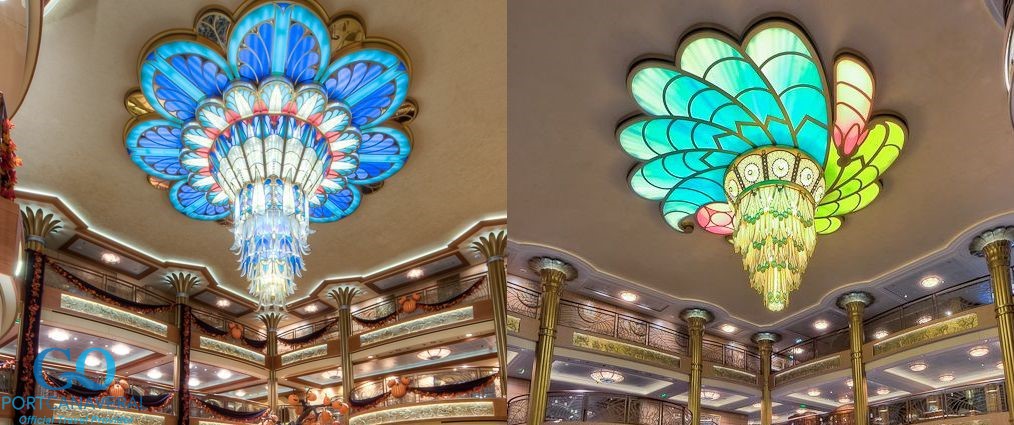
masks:
[[[179,212],[231,220],[262,308],[294,293],[310,223],[352,214],[411,150],[404,50],[327,16],[312,0],[205,11],[146,45],[126,99],[131,159]]]

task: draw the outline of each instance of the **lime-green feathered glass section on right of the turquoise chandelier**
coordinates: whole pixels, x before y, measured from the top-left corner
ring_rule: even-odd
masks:
[[[816,217],[858,211],[879,193],[877,181],[901,154],[908,129],[894,117],[876,117],[869,128],[859,150],[844,165],[836,149],[829,152],[824,168],[827,193],[820,200]]]

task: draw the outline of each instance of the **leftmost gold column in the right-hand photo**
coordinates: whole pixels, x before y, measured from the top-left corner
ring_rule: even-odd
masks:
[[[553,344],[557,339],[557,309],[564,284],[577,277],[577,270],[562,260],[535,257],[528,269],[538,273],[542,283],[541,313],[538,318],[538,342],[535,363],[531,366],[531,386],[528,391],[528,425],[541,425],[549,401],[550,373],[553,370]]]

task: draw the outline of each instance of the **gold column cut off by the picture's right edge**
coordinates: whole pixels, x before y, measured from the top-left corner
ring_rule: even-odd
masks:
[[[1004,361],[1004,393],[1014,400],[1014,295],[1011,294],[1011,242],[1014,227],[998,227],[975,236],[968,250],[985,257],[993,282],[997,331]],[[1007,410],[1007,422],[1014,424],[1014,409]]]

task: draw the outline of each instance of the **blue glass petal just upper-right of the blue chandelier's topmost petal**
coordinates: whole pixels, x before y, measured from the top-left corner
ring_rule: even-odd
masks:
[[[330,98],[349,105],[352,124],[368,128],[389,119],[405,101],[409,70],[397,55],[366,49],[335,61],[321,82]]]

